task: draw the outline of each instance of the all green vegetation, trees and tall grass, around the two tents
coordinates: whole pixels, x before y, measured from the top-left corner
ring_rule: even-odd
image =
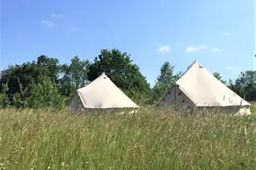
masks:
[[[105,72],[143,104],[139,114],[76,115],[65,102]],[[147,110],[182,72],[164,62],[150,87],[131,56],[102,49],[93,62],[79,56],[9,66],[0,72],[0,169],[256,169],[255,115],[170,114]],[[223,80],[245,100],[256,99],[256,72]],[[256,112],[256,104],[251,105]]]

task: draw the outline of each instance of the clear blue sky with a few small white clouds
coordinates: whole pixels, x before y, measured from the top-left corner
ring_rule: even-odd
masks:
[[[165,61],[185,72],[198,60],[224,79],[253,69],[252,0],[1,0],[0,70],[42,54],[91,62],[101,49],[131,54],[153,83]]]

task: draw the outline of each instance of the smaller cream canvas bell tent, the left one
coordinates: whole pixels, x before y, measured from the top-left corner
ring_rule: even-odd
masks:
[[[98,109],[135,110],[135,108],[139,108],[104,73],[90,84],[78,89],[69,100],[68,106],[78,112]]]

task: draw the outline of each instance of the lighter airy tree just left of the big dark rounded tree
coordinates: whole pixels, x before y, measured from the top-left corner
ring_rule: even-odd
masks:
[[[87,73],[90,66],[89,60],[81,60],[78,56],[71,59],[71,64],[62,66],[59,89],[64,96],[72,95],[77,89],[87,85]]]

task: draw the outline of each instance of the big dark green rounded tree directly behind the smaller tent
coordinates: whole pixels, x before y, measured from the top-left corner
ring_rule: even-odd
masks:
[[[150,95],[150,85],[146,77],[141,74],[139,66],[132,63],[131,55],[127,53],[121,53],[117,49],[102,49],[90,64],[88,80],[93,81],[103,72],[130,97],[134,93]]]

